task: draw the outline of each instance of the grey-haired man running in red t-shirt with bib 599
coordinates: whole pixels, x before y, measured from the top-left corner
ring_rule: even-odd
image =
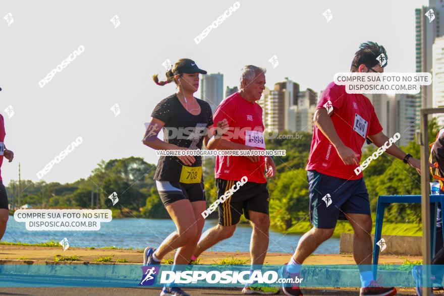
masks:
[[[265,149],[262,108],[256,103],[264,89],[265,69],[245,66],[240,91],[224,99],[214,112],[214,122],[227,119],[230,129],[234,128],[233,133],[226,133],[220,140],[217,150]],[[263,264],[268,249],[270,226],[265,170],[267,177],[272,177],[275,173],[271,157],[216,156],[217,197],[225,195],[232,188],[236,189],[236,192],[218,205],[219,224],[202,234],[192,259],[195,260],[203,251],[230,238],[236,230],[241,215],[244,214],[253,226],[250,246],[251,265],[253,267]],[[241,185],[241,182],[244,184]],[[246,285],[242,292],[274,294],[278,293],[279,289],[252,283]]]

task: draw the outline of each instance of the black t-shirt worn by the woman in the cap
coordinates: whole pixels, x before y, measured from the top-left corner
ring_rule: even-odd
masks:
[[[203,138],[207,128],[213,125],[213,116],[210,105],[196,98],[200,106],[200,113],[193,115],[185,109],[176,94],[161,100],[151,113],[151,117],[165,123],[163,126],[163,141],[187,147],[202,149]],[[194,156],[196,161],[192,167],[202,165],[202,157]],[[179,182],[184,164],[176,156],[160,156],[157,162],[154,180]]]

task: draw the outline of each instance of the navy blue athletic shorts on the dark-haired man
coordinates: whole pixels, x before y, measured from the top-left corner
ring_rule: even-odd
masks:
[[[370,201],[364,179],[346,180],[315,170],[307,172],[310,221],[316,228],[335,228],[345,214],[370,215]]]

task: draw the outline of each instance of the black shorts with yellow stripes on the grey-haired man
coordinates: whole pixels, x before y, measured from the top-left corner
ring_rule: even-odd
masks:
[[[233,186],[234,180],[216,179],[217,198],[224,195]],[[219,203],[219,224],[231,226],[239,223],[241,216],[250,219],[248,211],[264,213],[268,215],[269,196],[266,183],[247,182],[234,192],[228,194],[225,202]]]

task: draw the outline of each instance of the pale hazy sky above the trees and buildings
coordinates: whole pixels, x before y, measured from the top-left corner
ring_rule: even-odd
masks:
[[[0,112],[6,146],[4,183],[38,181],[36,173],[76,138],[83,142],[43,176],[46,182],[87,177],[101,160],[129,156],[157,163],[143,146],[144,123],[175,92],[151,76],[162,63],[192,58],[208,73],[238,84],[244,65],[267,69],[267,87],[289,77],[302,89],[323,89],[350,69],[361,42],[387,50],[386,72],[415,71],[415,8],[426,1],[243,1],[198,44],[194,38],[235,1],[2,1]],[[322,13],[330,9],[327,23]],[[14,22],[3,19],[11,13]],[[115,15],[120,25],[110,22]],[[85,50],[43,88],[38,84],[74,50]],[[273,69],[268,60],[278,57]],[[200,91],[196,92],[199,97]],[[110,108],[119,104],[120,114]],[[13,107],[9,118],[5,110]]]

